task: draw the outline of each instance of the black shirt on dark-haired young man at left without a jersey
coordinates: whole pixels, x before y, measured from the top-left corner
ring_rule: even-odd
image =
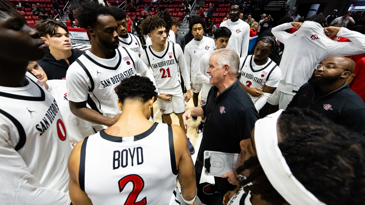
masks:
[[[71,65],[77,58],[85,53],[85,51],[80,51],[76,49],[71,50],[72,55],[68,58],[68,63]],[[50,50],[47,51],[47,56],[45,59],[37,61],[37,63],[46,72],[47,78],[50,79],[62,79],[66,77],[66,72],[69,65],[65,60],[56,60]]]

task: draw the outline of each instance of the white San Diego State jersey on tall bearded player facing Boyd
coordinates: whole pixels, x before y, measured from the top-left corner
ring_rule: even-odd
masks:
[[[136,74],[136,66],[134,54],[130,54],[124,47],[116,49],[116,56],[112,59],[101,59],[87,51],[84,55],[76,59],[69,69],[84,70],[90,97],[87,102],[90,107],[104,116],[114,116],[121,111],[118,108],[118,96],[115,93],[120,81]],[[69,71],[67,71],[68,73]],[[73,74],[73,73],[72,73]],[[71,73],[70,73],[71,75]],[[71,76],[66,76],[69,80]],[[69,86],[67,83],[67,91],[70,100],[75,98],[72,93],[77,93],[79,88]],[[70,97],[70,95],[73,95]]]

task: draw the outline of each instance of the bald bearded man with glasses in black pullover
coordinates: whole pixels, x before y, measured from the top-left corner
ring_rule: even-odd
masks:
[[[365,133],[365,102],[353,92],[346,79],[355,62],[342,56],[330,56],[315,66],[315,71],[287,108],[315,110],[354,132]]]

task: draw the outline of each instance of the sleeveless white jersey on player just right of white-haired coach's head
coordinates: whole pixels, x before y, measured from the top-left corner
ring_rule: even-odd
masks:
[[[248,88],[263,89],[266,81],[269,79],[277,65],[269,58],[266,64],[258,66],[254,64],[253,57],[254,55],[249,55],[240,59],[241,66],[239,72],[241,73],[241,77],[239,80],[241,84]],[[254,69],[253,67],[257,69]],[[250,96],[253,102],[258,99],[258,97],[248,96]]]

